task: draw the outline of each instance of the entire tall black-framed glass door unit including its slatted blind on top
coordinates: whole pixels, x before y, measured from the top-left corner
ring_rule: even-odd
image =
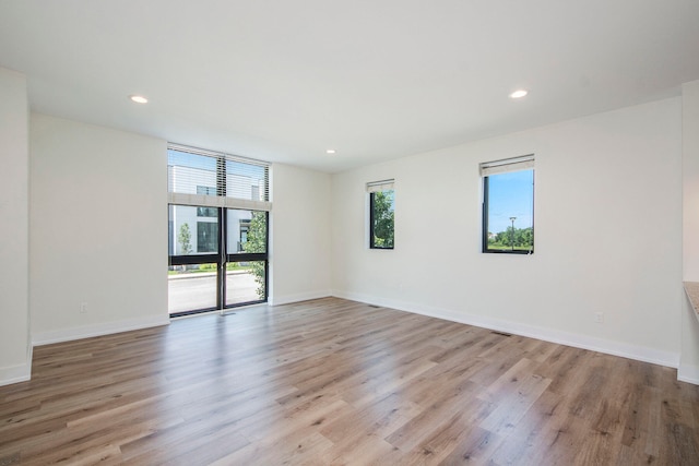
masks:
[[[266,301],[269,164],[174,144],[167,158],[170,315]]]

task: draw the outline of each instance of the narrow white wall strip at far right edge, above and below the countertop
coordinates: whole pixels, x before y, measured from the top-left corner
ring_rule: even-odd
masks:
[[[684,280],[699,282],[699,81],[683,85],[683,265]],[[699,321],[683,300],[678,377],[699,384]]]

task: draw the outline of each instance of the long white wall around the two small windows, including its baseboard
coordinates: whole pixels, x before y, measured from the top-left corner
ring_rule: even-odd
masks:
[[[680,129],[672,98],[335,175],[333,292],[677,367]],[[483,254],[478,163],[531,153],[535,253]],[[369,250],[386,178],[395,249]]]

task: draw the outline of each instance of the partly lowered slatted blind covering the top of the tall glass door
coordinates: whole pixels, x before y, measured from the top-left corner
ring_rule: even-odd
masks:
[[[270,164],[169,144],[168,202],[179,205],[270,211]]]

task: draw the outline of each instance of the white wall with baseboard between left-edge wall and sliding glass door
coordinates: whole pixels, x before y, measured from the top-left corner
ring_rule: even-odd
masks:
[[[166,142],[32,115],[31,152],[34,343],[167,323]]]

